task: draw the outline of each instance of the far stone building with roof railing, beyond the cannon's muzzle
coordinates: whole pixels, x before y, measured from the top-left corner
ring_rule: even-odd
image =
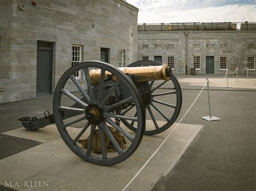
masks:
[[[248,68],[256,75],[256,26],[242,23],[138,25],[138,60],[166,62],[174,74],[224,74]]]

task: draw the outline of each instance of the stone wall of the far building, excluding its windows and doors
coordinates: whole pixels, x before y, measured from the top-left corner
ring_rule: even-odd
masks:
[[[247,68],[247,56],[256,59],[255,30],[228,31],[139,31],[138,60],[142,56],[174,56],[175,74],[190,74],[193,56],[200,56],[200,69],[197,74],[206,73],[206,56],[214,56],[214,74],[223,74],[220,69],[220,56],[227,56],[228,70]],[[245,73],[244,73],[245,74]],[[249,75],[256,75],[256,66],[249,70]]]

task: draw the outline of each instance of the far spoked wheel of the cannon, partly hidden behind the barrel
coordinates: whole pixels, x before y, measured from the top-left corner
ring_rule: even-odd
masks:
[[[156,61],[141,60],[141,61],[133,62],[127,67],[160,66],[160,65],[162,64]],[[176,121],[177,117],[179,116],[179,112],[181,109],[182,94],[181,94],[181,88],[180,88],[179,82],[176,79],[176,77],[172,74],[171,79],[169,81],[163,81],[160,84],[156,84],[156,82],[157,81],[147,82],[151,87],[151,93],[149,94],[150,95],[149,103],[145,104],[145,112],[147,116],[146,118],[152,120],[154,127],[152,129],[148,129],[146,126],[144,135],[156,135],[170,128],[170,126]],[[156,94],[157,90],[161,90],[162,92],[159,94]],[[172,96],[173,98],[172,104],[166,103],[169,100],[159,101],[159,98],[161,97],[163,98],[166,95]],[[157,104],[167,109],[165,109],[165,111],[162,111],[158,108]],[[157,118],[155,117],[154,114],[161,116],[161,119],[162,119],[161,121],[163,122],[159,123],[159,121],[157,121]],[[132,131],[136,131],[136,128],[133,126],[134,124],[133,122],[129,123],[124,119],[122,119],[122,122],[125,124],[125,126],[127,126],[127,128],[131,129]]]

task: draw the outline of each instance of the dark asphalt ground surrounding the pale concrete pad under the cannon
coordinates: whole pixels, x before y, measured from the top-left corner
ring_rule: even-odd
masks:
[[[206,76],[178,76],[183,105],[177,119],[184,116],[203,87]],[[255,190],[256,184],[256,82],[255,78],[234,82],[226,88],[221,76],[210,76],[211,111],[220,121],[207,122],[207,90],[204,90],[181,123],[204,125],[172,171],[153,190]],[[250,86],[247,86],[250,84]],[[24,116],[42,117],[52,112],[53,96],[0,104],[0,132],[21,128]],[[163,109],[164,110],[164,109]],[[165,112],[165,111],[164,111]],[[0,135],[0,158],[42,144],[34,140]],[[159,164],[161,165],[161,164]],[[1,172],[3,173],[3,172]],[[3,187],[0,187],[2,190]]]

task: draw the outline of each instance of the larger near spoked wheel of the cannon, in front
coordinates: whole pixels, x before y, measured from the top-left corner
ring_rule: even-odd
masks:
[[[92,86],[89,77],[90,69],[101,70],[98,94],[96,94],[93,89],[96,85]],[[113,82],[112,87],[109,89],[108,93],[103,94],[104,83],[106,81],[104,74],[106,71],[116,76],[117,80],[111,81]],[[74,77],[74,74],[76,75],[78,73],[82,76],[80,80],[77,80],[76,77]],[[73,85],[73,90],[75,88],[76,91],[70,90],[72,89],[70,88],[71,84]],[[85,88],[85,86],[87,86],[87,88]],[[116,92],[116,89],[119,86],[125,86],[129,89],[129,97],[118,101],[113,105],[106,104],[109,97]],[[117,107],[119,104],[131,101],[134,102],[138,114],[136,117],[117,115],[110,110],[113,107]],[[73,103],[73,107],[70,107],[71,102]],[[76,105],[76,107],[74,107],[74,105]],[[76,115],[75,119],[73,119],[73,117],[64,119],[63,112],[65,111],[76,112],[76,114],[79,113],[79,115]],[[95,121],[96,115],[92,117],[92,115],[94,115],[92,111],[99,112],[99,116],[101,116],[97,118],[97,122]],[[62,77],[60,77],[53,98],[53,113],[60,136],[70,150],[85,161],[97,165],[114,165],[127,159],[139,146],[145,129],[143,101],[138,89],[132,80],[130,80],[121,70],[109,63],[100,61],[86,61],[79,63],[68,69]],[[125,118],[128,121],[136,121],[136,130],[132,132],[124,125],[119,126],[114,122],[115,118],[118,118],[119,120]],[[110,125],[125,137],[127,142],[125,148],[121,148],[118,145],[116,139],[107,127]],[[68,130],[68,126],[77,129]],[[98,129],[99,132],[102,153],[93,152],[92,144],[96,129]],[[87,135],[85,135],[86,133]],[[109,137],[110,142],[112,142],[117,152],[107,152],[107,146],[105,144],[106,136]],[[78,140],[82,138],[87,138],[87,148],[82,148],[78,142]]]

